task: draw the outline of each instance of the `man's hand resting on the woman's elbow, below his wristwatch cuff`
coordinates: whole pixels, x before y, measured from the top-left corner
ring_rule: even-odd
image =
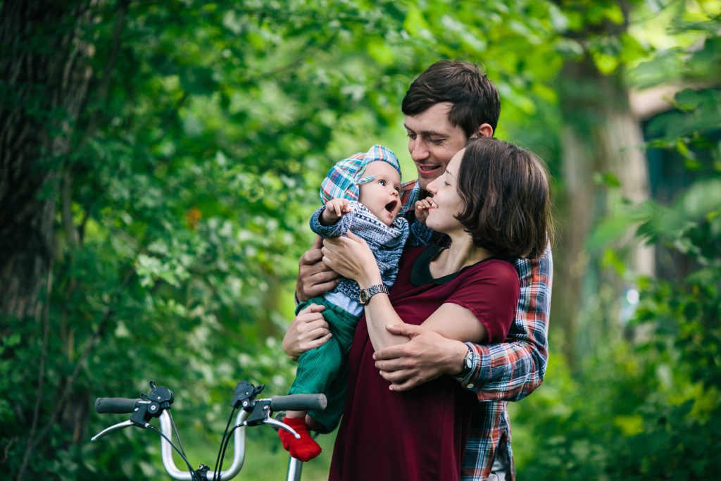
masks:
[[[392,391],[407,391],[443,374],[458,374],[468,348],[461,341],[448,339],[425,327],[397,324],[386,326],[392,334],[410,341],[381,349],[373,354],[376,368],[391,383]]]

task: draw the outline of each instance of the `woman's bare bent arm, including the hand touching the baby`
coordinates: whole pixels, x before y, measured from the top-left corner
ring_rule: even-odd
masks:
[[[382,283],[373,252],[363,239],[350,231],[347,237],[327,239],[323,254],[326,265],[340,275],[355,280],[361,288]],[[448,322],[448,319],[454,319],[454,322]],[[386,294],[371,297],[366,305],[366,324],[375,350],[410,340],[410,337],[395,335],[386,329],[389,325],[404,324]],[[448,339],[480,343],[488,338],[486,328],[476,315],[458,304],[442,304],[422,325]]]

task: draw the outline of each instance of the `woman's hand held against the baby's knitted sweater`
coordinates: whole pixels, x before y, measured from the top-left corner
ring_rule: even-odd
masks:
[[[329,237],[323,242],[323,262],[361,288],[381,283],[381,273],[366,241],[348,231],[346,237]]]

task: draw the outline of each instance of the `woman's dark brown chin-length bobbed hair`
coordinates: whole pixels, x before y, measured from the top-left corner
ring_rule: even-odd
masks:
[[[464,211],[456,216],[477,247],[496,257],[541,257],[552,239],[546,164],[495,138],[471,138],[458,172]]]

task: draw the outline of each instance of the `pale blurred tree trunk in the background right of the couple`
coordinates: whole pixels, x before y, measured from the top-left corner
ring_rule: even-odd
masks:
[[[578,352],[590,348],[597,335],[610,327],[609,322],[617,320],[623,288],[617,277],[601,283],[604,276],[598,259],[585,247],[588,234],[609,202],[617,200],[614,196],[634,202],[649,196],[640,125],[632,116],[621,79],[621,74],[601,75],[593,61],[585,58],[565,66],[558,86],[565,124],[561,139],[565,223],[554,251],[557,275],[551,318],[555,339],[570,366],[578,366]],[[599,185],[594,180],[597,173],[614,174],[620,182],[617,193]],[[631,237],[629,233],[626,240]],[[632,247],[627,265],[634,273],[653,275],[653,251]],[[598,304],[582,304],[582,299],[596,299]],[[600,319],[589,316],[591,311],[601,312]]]

